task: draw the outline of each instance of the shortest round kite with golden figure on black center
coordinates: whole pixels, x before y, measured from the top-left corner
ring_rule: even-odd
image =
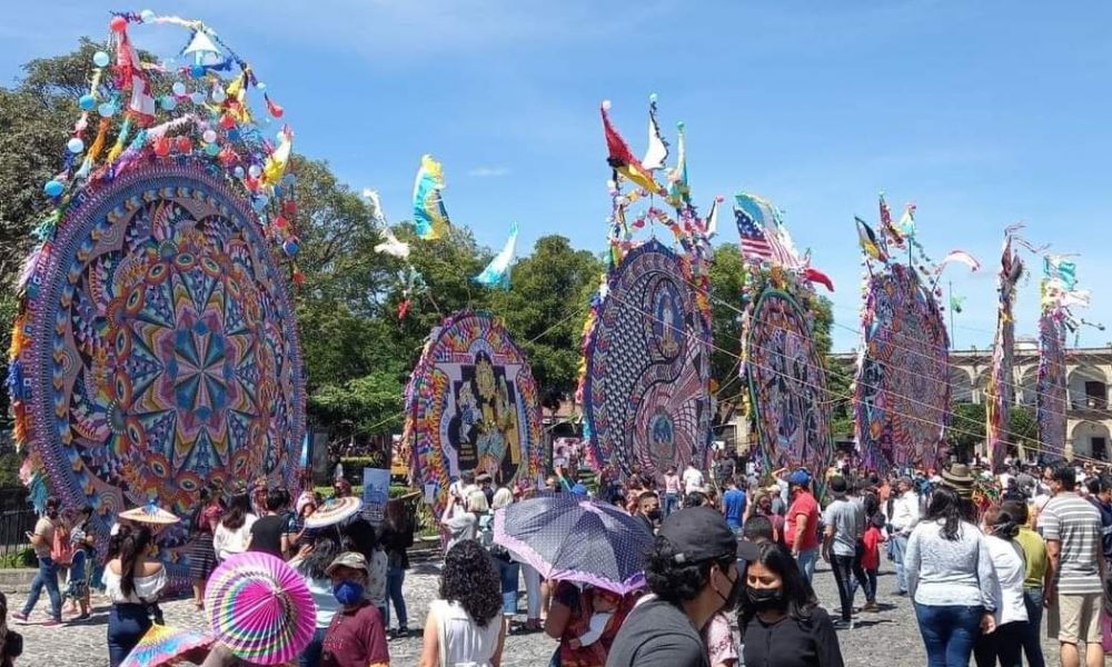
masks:
[[[438,506],[463,470],[530,486],[543,470],[537,384],[525,354],[488,313],[463,310],[433,330],[406,406],[415,477],[435,485]]]

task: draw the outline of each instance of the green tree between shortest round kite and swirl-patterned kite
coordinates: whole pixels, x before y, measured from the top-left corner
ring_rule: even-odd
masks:
[[[565,237],[546,236],[514,266],[509,290],[490,296],[492,310],[528,354],[548,406],[575,392],[583,322],[603,270],[594,255],[573,249]]]

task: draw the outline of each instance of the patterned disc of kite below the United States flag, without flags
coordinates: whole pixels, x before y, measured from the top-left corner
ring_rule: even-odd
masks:
[[[745,369],[765,469],[802,466],[821,482],[833,447],[826,374],[810,318],[792,292],[768,285],[745,323]]]

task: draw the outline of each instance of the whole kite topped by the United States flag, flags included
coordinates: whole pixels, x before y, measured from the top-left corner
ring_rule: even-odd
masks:
[[[765,470],[806,468],[824,491],[833,457],[826,371],[815,347],[811,282],[833,283],[801,259],[772,202],[741,193],[734,216],[746,259],[742,327],[748,417]]]

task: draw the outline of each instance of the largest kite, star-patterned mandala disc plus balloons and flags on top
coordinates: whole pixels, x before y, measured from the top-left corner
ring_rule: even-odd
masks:
[[[188,29],[186,62],[141,61],[128,31],[143,23]],[[292,132],[255,123],[250,66],[203,23],[149,11],[117,14],[92,60],[19,283],[9,389],[32,499],[91,505],[106,539],[120,510],[183,516],[209,482],[292,487],[305,395],[279,257],[297,252]]]

